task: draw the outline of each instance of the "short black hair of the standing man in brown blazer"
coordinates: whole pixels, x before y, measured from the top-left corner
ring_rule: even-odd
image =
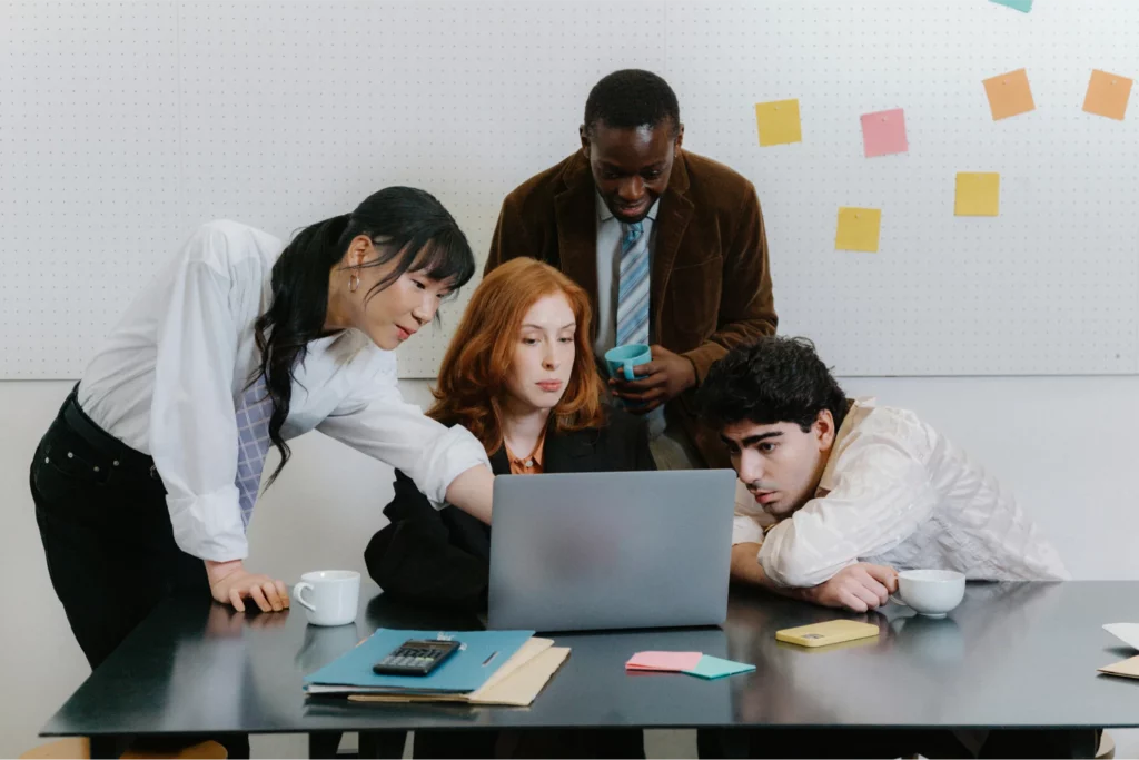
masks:
[[[677,93],[663,79],[641,68],[613,72],[593,85],[585,99],[585,134],[593,137],[598,123],[614,129],[658,126],[665,121],[675,136],[680,130]]]

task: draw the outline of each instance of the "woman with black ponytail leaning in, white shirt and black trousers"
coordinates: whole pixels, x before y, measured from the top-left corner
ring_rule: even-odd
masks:
[[[245,569],[245,531],[269,446],[276,477],[286,441],[312,428],[399,468],[436,506],[490,521],[483,446],[402,401],[392,353],[474,271],[451,214],[411,188],[287,246],[228,221],[194,234],[32,463],[48,571],[92,668],[175,591],[288,606],[284,583]]]

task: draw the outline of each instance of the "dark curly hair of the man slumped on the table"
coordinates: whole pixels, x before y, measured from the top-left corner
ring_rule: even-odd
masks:
[[[716,428],[749,420],[794,423],[804,433],[829,409],[835,428],[846,394],[805,337],[769,335],[734,349],[712,366],[697,395],[700,416]]]

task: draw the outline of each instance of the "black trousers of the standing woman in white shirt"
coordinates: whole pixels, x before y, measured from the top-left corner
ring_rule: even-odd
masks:
[[[99,428],[74,391],[35,450],[31,488],[51,586],[92,669],[163,598],[210,594],[205,565],[174,544],[150,458]],[[248,757],[246,737],[218,741]]]

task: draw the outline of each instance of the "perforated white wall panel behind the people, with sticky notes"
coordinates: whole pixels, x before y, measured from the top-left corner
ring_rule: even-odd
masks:
[[[672,83],[686,147],[755,182],[780,332],[841,374],[1139,370],[1139,105],[1123,122],[1081,109],[1092,68],[1139,74],[1126,0],[0,14],[0,377],[77,377],[210,219],[287,237],[416,185],[484,255],[502,196],[576,148],[590,87],[625,66]],[[982,80],[1021,67],[1036,109],[994,122]],[[786,98],[803,141],[761,148],[754,105]],[[909,152],[865,158],[859,117],[899,107]],[[1000,172],[999,216],[953,215],[959,171]],[[839,206],[882,209],[878,253],[835,251]],[[445,341],[416,336],[402,374],[433,376]]]

